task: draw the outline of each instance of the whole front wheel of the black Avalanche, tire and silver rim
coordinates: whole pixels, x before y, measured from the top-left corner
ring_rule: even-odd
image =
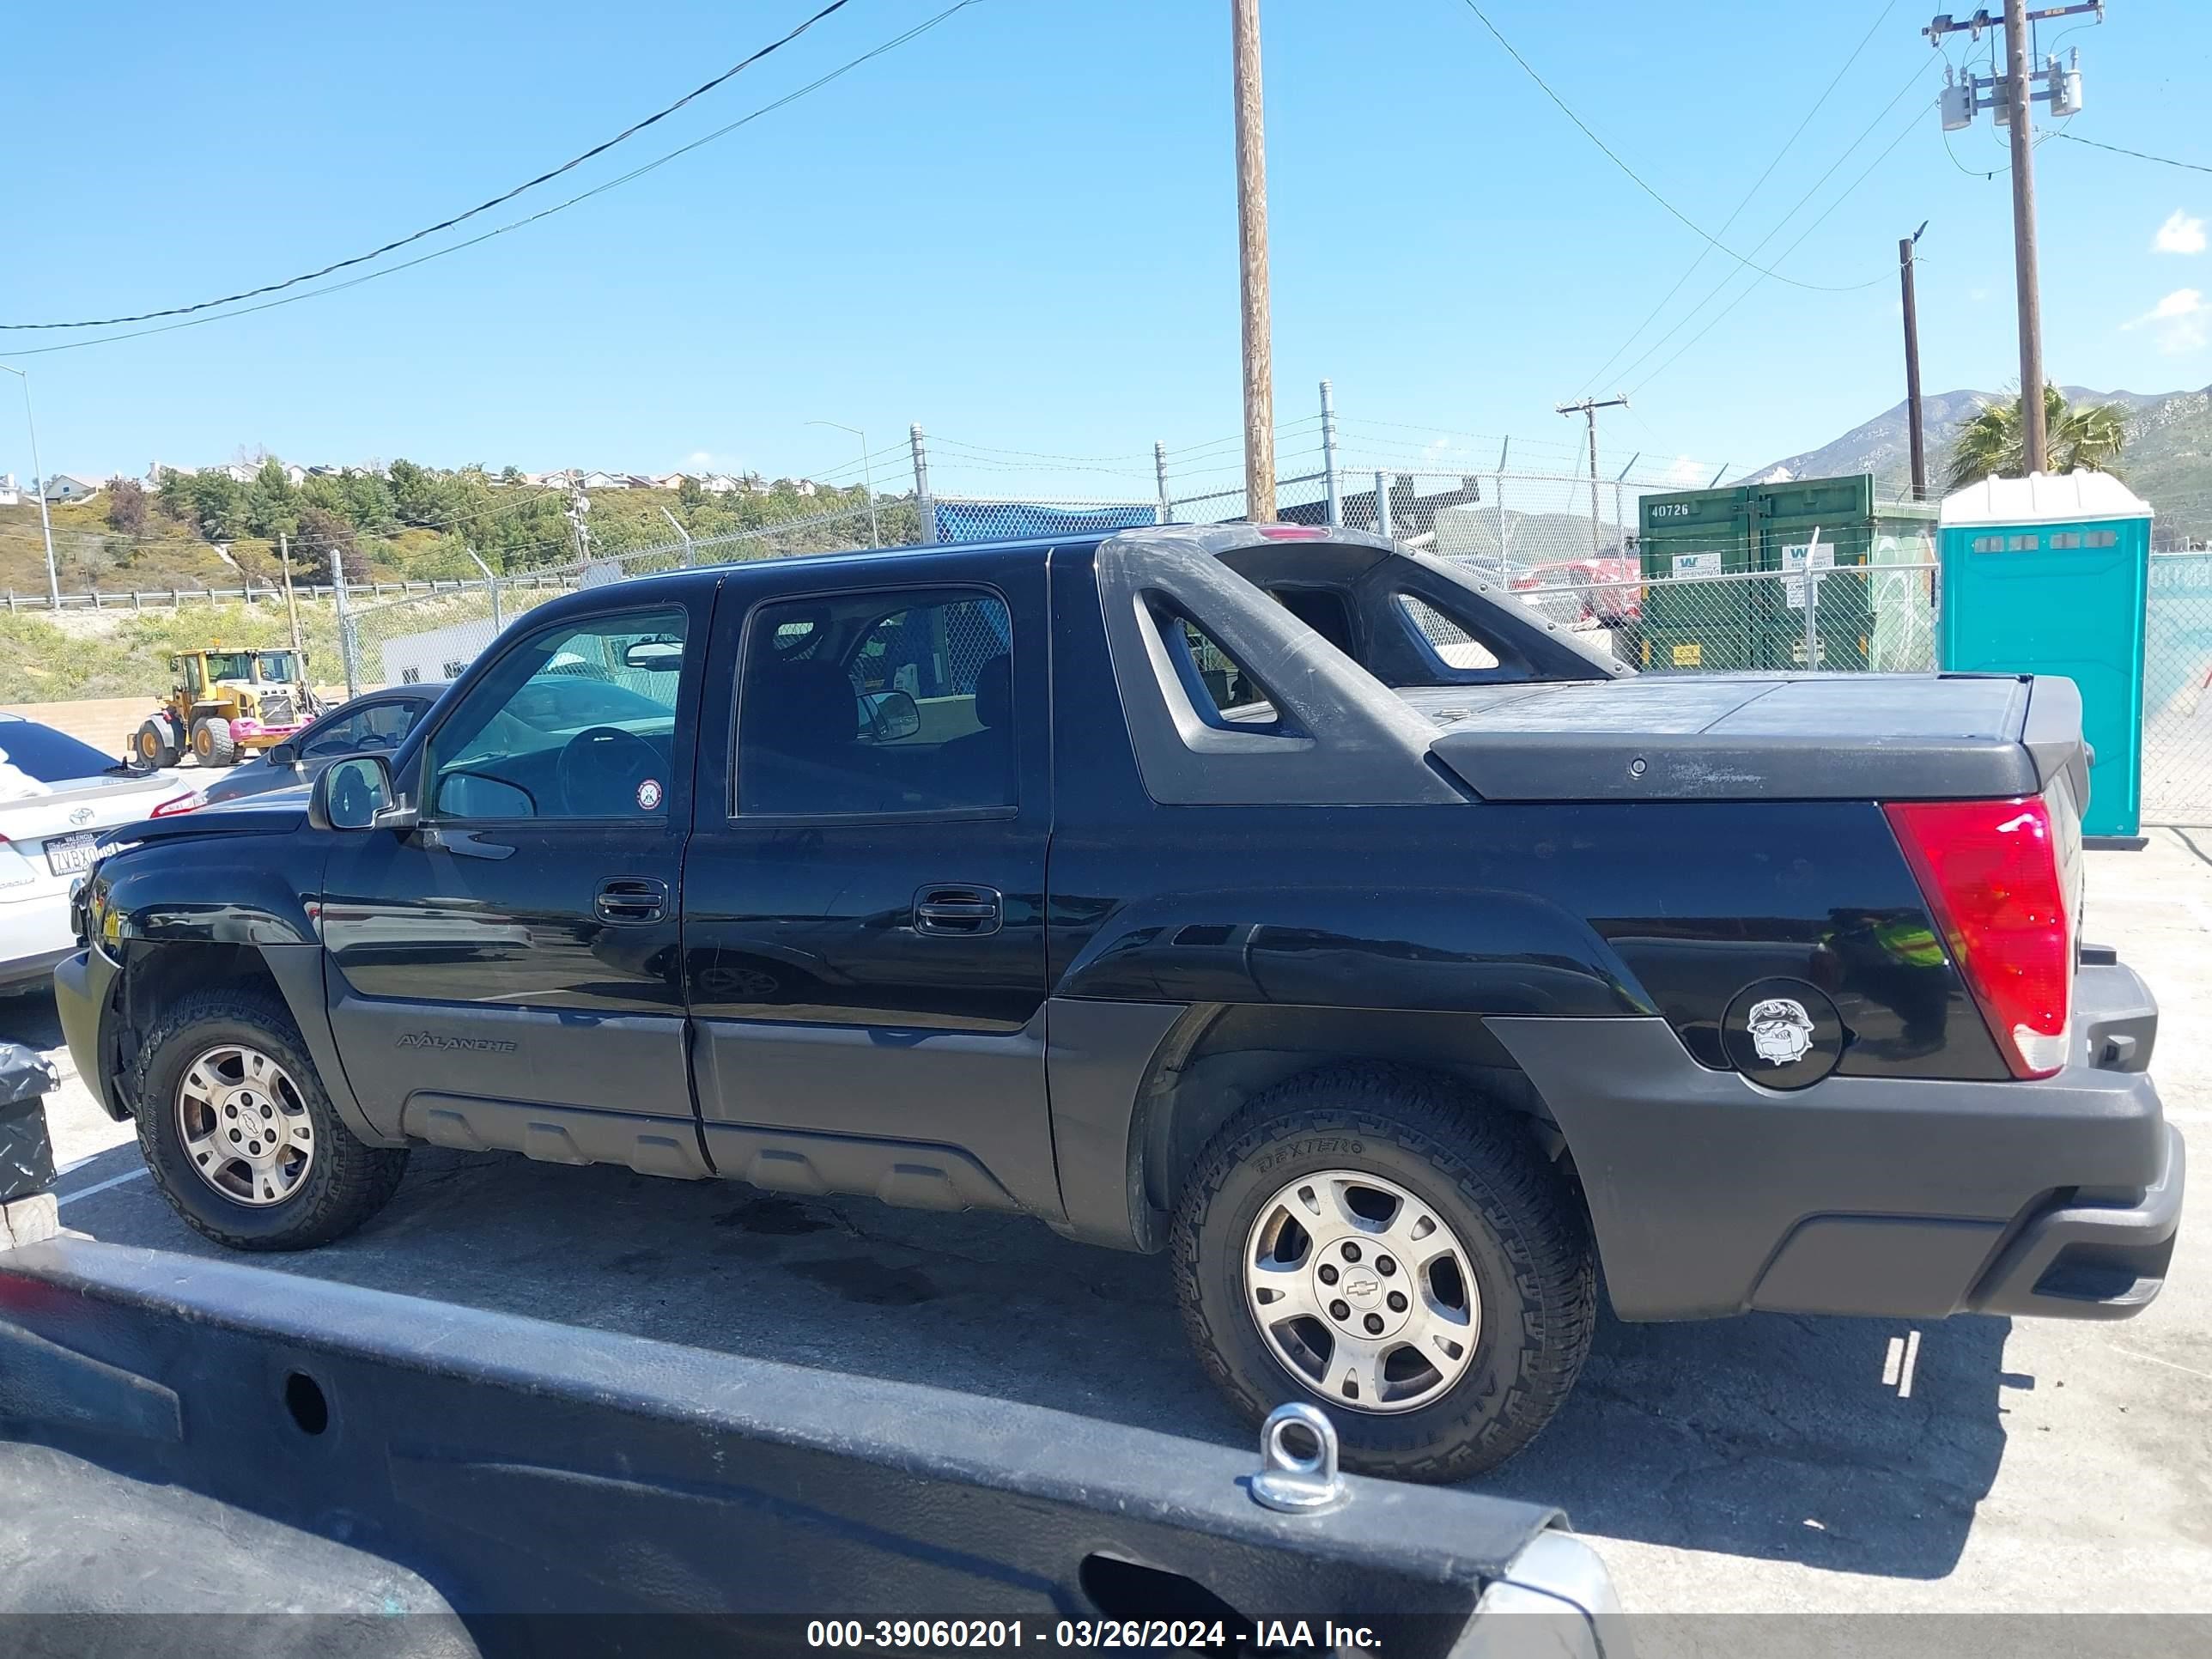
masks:
[[[354,1137],[290,1009],[268,991],[195,991],[133,1071],[139,1150],[184,1223],[230,1250],[312,1250],[398,1190],[405,1148]]]

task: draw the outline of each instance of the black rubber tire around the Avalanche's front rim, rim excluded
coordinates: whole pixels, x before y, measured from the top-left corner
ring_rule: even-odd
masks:
[[[301,1091],[312,1091],[310,1110],[316,1104],[323,1108],[316,1121],[321,1144],[314,1150],[319,1168],[310,1175],[310,1188],[319,1186],[321,1190],[314,1192],[314,1203],[301,1212],[299,1221],[276,1237],[226,1230],[197,1214],[195,1206],[184,1203],[181,1194],[170,1186],[157,1157],[164,1102],[148,1095],[148,1075],[170,1042],[192,1026],[217,1020],[261,1031],[272,1048],[283,1051],[274,1057],[292,1073],[292,1082]],[[299,1035],[299,1022],[292,1020],[292,1011],[283,1004],[283,998],[272,991],[215,987],[179,998],[139,1044],[137,1064],[131,1068],[131,1099],[133,1117],[137,1119],[139,1152],[146,1157],[146,1170],[153,1175],[155,1186],[161,1188],[170,1208],[188,1228],[228,1250],[312,1250],[332,1239],[343,1239],[383,1210],[392,1201],[392,1194],[398,1192],[400,1177],[407,1175],[407,1148],[369,1146],[330,1106],[330,1095],[314,1068],[314,1057]],[[208,1197],[215,1199],[217,1194],[208,1192]]]

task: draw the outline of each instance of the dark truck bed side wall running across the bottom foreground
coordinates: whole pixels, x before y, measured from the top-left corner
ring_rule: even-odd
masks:
[[[1256,1455],[1232,1447],[303,1290],[263,1267],[75,1239],[0,1252],[0,1482],[24,1467],[7,1440],[27,1440],[64,1473],[91,1462],[279,1526],[343,1526],[361,1571],[403,1590],[398,1610],[449,1606],[476,1632],[502,1615],[739,1619],[659,1632],[692,1652],[801,1646],[803,1626],[743,1619],[989,1615],[1035,1635],[1040,1619],[1135,1615],[1124,1597],[1170,1582],[1223,1615],[1336,1619],[1394,1650],[1444,1652],[1484,1595],[1557,1559],[1555,1546],[1531,1557],[1559,1524],[1535,1504],[1347,1478],[1340,1509],[1279,1515],[1245,1491]],[[104,1537],[77,1540],[80,1566]],[[64,1606],[144,1610],[131,1597],[164,1595],[159,1559],[131,1568],[64,1586],[77,1597]],[[1557,1593],[1559,1575],[1548,1584]],[[1604,1601],[1601,1571],[1588,1586],[1586,1601]],[[33,1588],[53,1606],[53,1579],[11,1575],[0,1613]],[[1568,1650],[1595,1650],[1582,1608],[1564,1610]],[[657,1646],[617,1621],[597,1639],[568,1626],[560,1650],[624,1641]]]

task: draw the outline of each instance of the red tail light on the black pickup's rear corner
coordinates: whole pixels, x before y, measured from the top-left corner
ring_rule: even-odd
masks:
[[[2048,803],[1898,801],[1882,810],[2013,1075],[2059,1071],[2075,918]]]

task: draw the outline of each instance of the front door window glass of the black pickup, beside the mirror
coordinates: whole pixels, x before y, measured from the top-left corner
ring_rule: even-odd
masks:
[[[557,624],[504,653],[425,759],[436,818],[666,818],[681,611]]]

